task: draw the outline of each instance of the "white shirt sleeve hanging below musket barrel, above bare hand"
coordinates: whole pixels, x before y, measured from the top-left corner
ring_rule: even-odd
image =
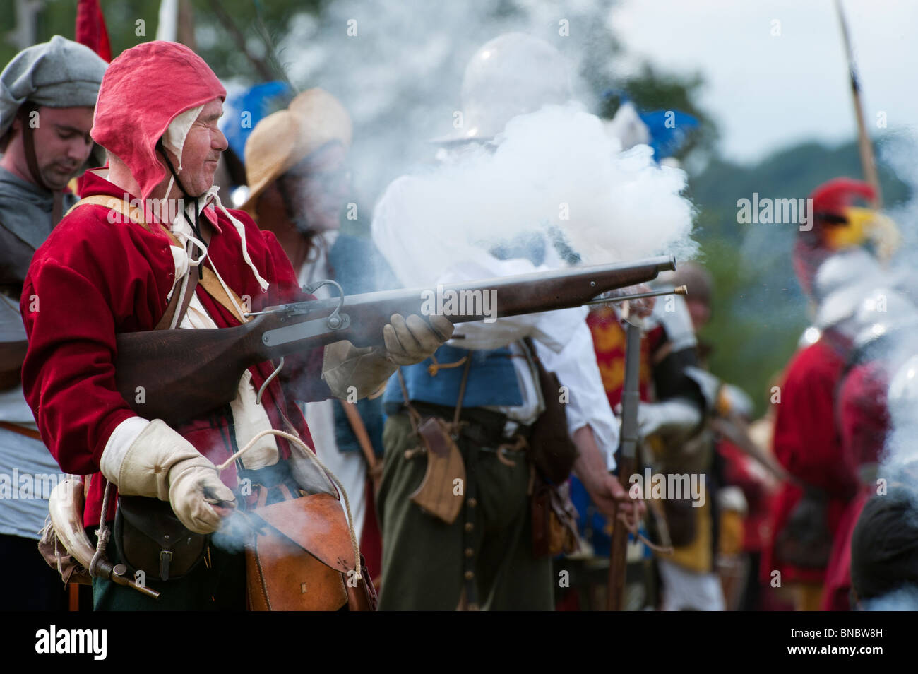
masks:
[[[606,389],[602,386],[587,322],[580,320],[577,330],[560,353],[554,353],[538,342],[535,348],[545,369],[554,372],[561,386],[567,389],[567,431],[573,435],[584,426],[592,428],[596,444],[606,456],[606,466],[613,470],[615,449],[619,445],[619,423],[612,414]]]

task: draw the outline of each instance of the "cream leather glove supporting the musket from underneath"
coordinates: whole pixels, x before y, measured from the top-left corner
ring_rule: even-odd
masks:
[[[453,323],[442,316],[431,316],[430,324],[416,314],[408,320],[392,314],[390,320],[383,326],[385,349],[358,349],[347,340],[325,347],[322,378],[335,398],[366,398],[386,383],[398,365],[420,363],[453,336]]]

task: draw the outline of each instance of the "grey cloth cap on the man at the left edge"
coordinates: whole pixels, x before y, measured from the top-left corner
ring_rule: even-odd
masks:
[[[60,35],[17,53],[0,73],[0,138],[26,101],[95,107],[107,65],[95,51]]]

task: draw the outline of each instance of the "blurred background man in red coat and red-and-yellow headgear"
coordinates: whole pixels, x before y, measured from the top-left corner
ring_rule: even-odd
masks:
[[[850,178],[820,185],[811,197],[812,228],[800,230],[794,246],[794,270],[818,306],[821,334],[794,356],[780,387],[774,454],[794,479],[773,500],[761,574],[770,587],[789,588],[798,610],[820,606],[834,534],[856,490],[834,410],[854,338],[851,321],[863,297],[855,286],[879,275],[876,260],[859,246],[872,239],[885,255],[897,241],[890,220],[853,206],[873,197],[870,185]]]

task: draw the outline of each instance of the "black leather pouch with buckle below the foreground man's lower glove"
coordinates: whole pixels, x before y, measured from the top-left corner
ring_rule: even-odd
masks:
[[[119,496],[115,545],[131,573],[148,578],[179,579],[204,558],[208,536],[195,534],[175,516],[168,501]]]

